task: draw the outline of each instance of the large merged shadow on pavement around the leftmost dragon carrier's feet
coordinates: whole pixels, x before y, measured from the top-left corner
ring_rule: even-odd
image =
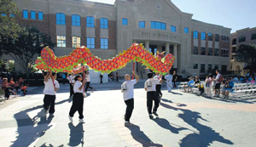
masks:
[[[68,102],[69,99],[61,100],[60,102],[55,103],[55,105],[61,105],[65,102]],[[30,118],[28,112],[33,110],[42,109],[38,112],[37,116]],[[38,138],[44,136],[46,131],[52,127],[49,123],[52,121],[53,117],[44,116],[43,105],[38,105],[26,110],[22,110],[14,115],[17,122],[17,133],[18,136],[13,142],[14,144],[10,145],[12,147],[20,146],[29,146]]]

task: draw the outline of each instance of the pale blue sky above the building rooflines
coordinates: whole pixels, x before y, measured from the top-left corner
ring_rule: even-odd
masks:
[[[89,1],[113,4],[115,0]],[[231,32],[256,27],[256,0],[172,0],[172,3],[183,12],[194,14],[194,20],[224,25]]]

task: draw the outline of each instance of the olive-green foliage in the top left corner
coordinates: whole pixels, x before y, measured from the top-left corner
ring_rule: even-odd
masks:
[[[21,28],[15,17],[19,15],[20,11],[16,3],[12,0],[0,0],[0,42],[4,37],[14,39],[17,37]]]

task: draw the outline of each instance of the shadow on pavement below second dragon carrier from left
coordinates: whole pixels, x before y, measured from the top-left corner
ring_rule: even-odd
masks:
[[[72,122],[68,123],[70,129],[70,138],[68,145],[78,146],[79,144],[84,145],[84,126],[83,123],[79,123],[74,126]]]

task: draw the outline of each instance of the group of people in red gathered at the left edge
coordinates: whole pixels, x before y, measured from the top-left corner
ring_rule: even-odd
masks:
[[[19,89],[23,92],[22,95],[25,96],[27,92],[26,88],[28,87],[28,84],[24,85],[24,80],[22,77],[15,81],[13,77],[8,79],[8,77],[0,76],[0,93],[4,99],[9,99],[10,95],[14,95],[15,98],[17,93],[20,93]]]

